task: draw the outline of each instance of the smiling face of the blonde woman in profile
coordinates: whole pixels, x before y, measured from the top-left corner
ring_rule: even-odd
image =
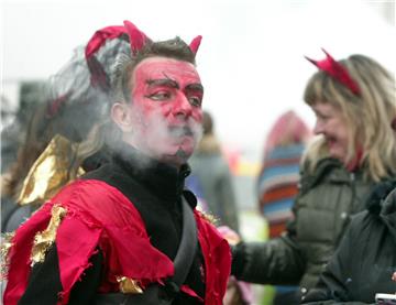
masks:
[[[330,102],[316,102],[312,107],[316,115],[315,134],[326,139],[330,156],[346,164],[349,133],[346,120],[338,107]]]

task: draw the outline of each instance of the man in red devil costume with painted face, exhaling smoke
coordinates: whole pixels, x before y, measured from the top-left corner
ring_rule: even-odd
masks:
[[[200,36],[190,45],[178,37],[152,42],[125,21],[94,35],[88,66],[102,69],[91,53],[125,34],[131,56],[119,58],[111,84],[111,159],[65,186],[15,231],[4,305],[222,304],[228,242],[184,189],[201,133]],[[196,250],[190,263],[176,268],[190,225],[185,206],[196,225],[187,248]]]

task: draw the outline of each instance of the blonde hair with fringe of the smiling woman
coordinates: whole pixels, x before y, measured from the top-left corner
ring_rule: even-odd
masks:
[[[345,118],[349,139],[346,161],[356,155],[356,142],[362,145],[365,176],[380,181],[396,174],[396,133],[392,121],[396,118],[395,80],[382,65],[364,55],[352,55],[339,62],[358,84],[360,94],[329,76],[317,72],[308,81],[304,100],[309,106],[329,102]],[[304,156],[312,171],[317,162],[328,156],[323,137],[316,137]]]

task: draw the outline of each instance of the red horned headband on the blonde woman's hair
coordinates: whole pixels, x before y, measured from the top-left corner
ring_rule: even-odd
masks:
[[[314,65],[316,65],[319,69],[326,72],[328,75],[330,75],[332,78],[344,85],[346,88],[349,88],[354,95],[360,95],[360,88],[352,79],[348,70],[340,65],[338,62],[334,61],[331,55],[326,52],[323,48],[322,51],[326,54],[326,58],[322,61],[314,61],[307,56],[305,56],[309,62],[311,62]]]

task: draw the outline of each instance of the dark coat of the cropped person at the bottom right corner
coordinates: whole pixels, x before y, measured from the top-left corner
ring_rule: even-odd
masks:
[[[396,183],[378,185],[304,304],[374,304],[396,293]]]

